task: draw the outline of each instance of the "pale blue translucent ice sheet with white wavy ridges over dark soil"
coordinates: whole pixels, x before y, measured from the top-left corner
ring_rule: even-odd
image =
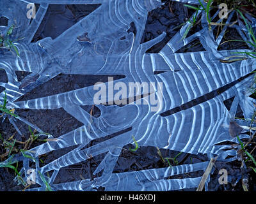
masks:
[[[198,4],[198,1],[179,1],[182,3]],[[29,24],[26,17],[28,3],[40,4],[36,18]],[[52,40],[44,38],[36,43],[31,40],[44,18],[49,4],[101,4],[97,10],[90,13],[77,24]],[[28,175],[29,162],[36,163],[36,172],[40,171],[54,190],[93,191],[95,187],[105,187],[106,191],[169,191],[197,187],[201,177],[189,179],[166,179],[172,175],[205,170],[208,162],[184,164],[173,168],[160,168],[126,173],[113,173],[116,161],[122,147],[134,143],[154,146],[163,149],[188,152],[191,154],[207,154],[209,159],[218,155],[223,161],[236,159],[236,149],[230,145],[217,145],[225,141],[236,142],[229,133],[230,122],[241,126],[250,126],[250,121],[235,119],[237,106],[241,106],[244,117],[252,119],[255,111],[255,99],[250,98],[253,75],[237,81],[253,71],[255,59],[226,63],[225,59],[234,52],[250,52],[250,50],[221,50],[218,45],[227,29],[224,26],[218,38],[214,38],[213,30],[209,30],[205,13],[202,13],[202,30],[182,39],[189,22],[157,54],[146,54],[148,48],[163,40],[165,33],[154,40],[141,44],[144,27],[149,11],[161,6],[158,0],[1,0],[1,16],[8,18],[8,26],[19,25],[15,28],[15,38],[26,38],[15,43],[20,56],[12,52],[0,55],[0,68],[6,71],[8,82],[0,85],[6,89],[10,107],[27,109],[58,109],[64,110],[84,125],[70,133],[61,135],[58,140],[49,141],[31,149],[31,156],[17,155],[15,161],[23,161],[22,173],[24,180]],[[226,24],[236,13],[230,13]],[[218,13],[213,18],[217,18]],[[136,35],[128,33],[131,23],[136,26]],[[217,21],[218,22],[218,21]],[[252,20],[255,24],[255,19]],[[8,27],[0,27],[2,33]],[[248,40],[246,27],[241,24],[236,29],[243,40]],[[177,53],[180,48],[193,40],[199,39],[204,52]],[[250,47],[250,45],[248,45]],[[28,71],[22,82],[18,82],[15,71]],[[154,71],[165,71],[154,75]],[[129,82],[163,83],[163,89],[155,89],[156,97],[163,92],[163,105],[156,112],[151,112],[150,103],[117,105],[97,105],[100,117],[92,117],[81,106],[93,105],[93,96],[97,92],[93,86],[63,92],[52,96],[15,102],[20,96],[31,91],[38,85],[44,84],[60,73],[80,75],[125,75],[125,78],[115,80],[128,86]],[[224,89],[220,94],[216,90]],[[109,84],[105,84],[108,88]],[[158,94],[157,94],[158,92]],[[143,92],[143,94],[152,94]],[[135,94],[132,96],[134,97]],[[4,92],[0,98],[3,99]],[[113,97],[113,96],[111,96]],[[130,97],[130,96],[129,96]],[[223,101],[234,98],[230,110]],[[106,100],[109,102],[107,96]],[[196,101],[191,103],[191,101]],[[191,105],[192,104],[192,105]],[[185,108],[175,111],[175,108]],[[28,121],[18,117],[17,120],[26,122],[29,126],[40,130]],[[15,121],[11,121],[15,124]],[[131,130],[115,136],[92,147],[86,145],[96,138],[117,133],[132,127]],[[247,131],[247,130],[246,130]],[[245,132],[245,131],[244,131]],[[242,131],[240,137],[248,137]],[[65,147],[78,147],[51,163],[40,167],[38,156]],[[228,149],[228,150],[227,150]],[[107,152],[94,174],[102,171],[102,176],[95,180],[81,180],[65,184],[54,184],[54,179],[61,168],[85,161],[92,156]],[[47,172],[52,171],[51,177]],[[45,183],[36,174],[36,183],[42,187],[29,191],[45,189]]]

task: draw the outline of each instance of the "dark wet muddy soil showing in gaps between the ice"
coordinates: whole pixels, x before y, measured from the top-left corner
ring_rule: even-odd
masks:
[[[152,40],[159,36],[159,34],[166,32],[166,38],[163,41],[150,48],[148,53],[157,53],[161,48],[166,45],[166,43],[179,31],[179,25],[186,22],[188,17],[193,13],[192,10],[184,7],[180,3],[173,3],[170,1],[163,1],[164,5],[161,8],[157,8],[154,11],[148,13],[147,25],[145,27],[145,33],[141,43]],[[37,6],[38,7],[38,6]],[[33,42],[41,40],[47,36],[51,36],[53,39],[58,35],[63,33],[72,25],[76,24],[81,18],[91,13],[99,7],[97,5],[50,5],[45,15],[45,18],[40,25],[38,31],[36,32]],[[195,29],[192,29],[190,32],[195,32],[200,29],[200,24]],[[132,32],[132,28],[131,28]],[[233,32],[233,31],[230,31]],[[191,34],[191,33],[189,33]],[[238,34],[235,34],[234,37],[239,38]],[[195,45],[196,44],[196,45]],[[223,44],[220,47],[220,50],[232,49],[232,48],[241,48],[240,43]],[[180,50],[180,52],[195,52],[203,50],[202,45],[199,41],[193,42],[189,47]],[[29,73],[19,72],[17,73],[18,78],[22,79]],[[33,99],[43,96],[50,96],[52,94],[58,94],[60,92],[66,92],[74,89],[79,89],[81,87],[86,87],[89,85],[95,84],[95,82],[107,82],[109,76],[100,76],[100,75],[58,75],[57,77],[52,78],[49,82],[40,85],[33,89],[31,92],[28,92],[22,96],[19,100]],[[124,78],[122,75],[113,76],[115,79]],[[4,74],[3,70],[0,70],[0,81],[7,82],[7,77]],[[1,87],[0,87],[0,91]],[[227,106],[230,105],[232,101],[227,101]],[[90,111],[93,107],[85,107]],[[241,112],[240,112],[241,113]],[[59,110],[17,110],[17,114],[24,119],[27,119],[29,122],[38,126],[38,128],[44,129],[45,132],[50,133],[54,137],[58,137],[69,131],[82,126],[81,122],[77,121],[69,115],[62,108]],[[95,115],[99,115],[99,110],[95,109]],[[0,133],[4,139],[8,140],[11,136],[17,141],[24,142],[29,138],[28,126],[17,122],[17,126],[22,131],[23,135],[20,136],[15,128],[10,124],[8,119],[5,119],[3,122],[0,122]],[[111,135],[113,136],[113,135]],[[111,136],[107,136],[109,138]],[[105,139],[106,139],[105,138]],[[13,140],[9,140],[13,142]],[[101,142],[102,140],[94,140],[88,146],[95,145],[96,143]],[[41,142],[42,143],[42,142]],[[40,142],[34,142],[31,144],[31,148],[40,145]],[[24,145],[15,144],[17,148],[24,148]],[[47,164],[54,160],[57,157],[65,154],[66,152],[74,149],[75,147],[70,147],[67,149],[56,150],[54,152],[49,152],[40,157],[40,165]],[[140,147],[136,152],[131,152],[129,148],[134,148],[132,145],[126,145],[122,149],[122,153],[118,158],[115,169],[113,173],[121,173],[126,171],[139,171],[147,170],[151,168],[163,168],[168,167],[169,164],[164,157],[175,157],[179,152],[172,150],[161,149],[160,152],[157,147]],[[251,149],[253,147],[250,147]],[[14,150],[15,151],[15,150]],[[0,145],[0,155],[3,155],[6,152],[3,145]],[[61,168],[58,173],[54,184],[63,183],[63,182],[72,182],[75,180],[81,179],[93,179],[93,171],[97,168],[100,161],[104,158],[105,154],[101,154],[92,159],[88,159],[82,163],[74,164],[66,168]],[[254,155],[255,156],[255,155]],[[1,159],[3,161],[4,157]],[[172,165],[177,164],[189,164],[189,163],[199,163],[202,161],[207,161],[207,156],[205,155],[192,155],[181,153],[177,156],[177,163],[170,161]],[[18,170],[20,170],[22,164],[18,164]],[[218,173],[222,168],[227,169],[228,176],[232,178],[232,182],[227,185],[220,185],[218,178],[220,174]],[[188,175],[177,175],[176,179],[182,179],[184,177],[198,177],[204,172],[194,172],[189,173]],[[97,175],[100,176],[100,173]],[[17,191],[22,190],[23,186],[17,186],[17,182],[13,179],[15,178],[15,173],[10,168],[0,168],[0,191]],[[234,161],[232,163],[221,163],[216,162],[214,169],[212,170],[211,180],[209,182],[209,191],[243,191],[242,179],[248,180],[248,189],[250,191],[256,190],[256,177],[255,173],[250,169],[241,168],[241,161]],[[104,189],[98,189],[102,191]],[[195,191],[195,189],[189,189],[190,191]],[[186,191],[186,189],[182,190]]]

